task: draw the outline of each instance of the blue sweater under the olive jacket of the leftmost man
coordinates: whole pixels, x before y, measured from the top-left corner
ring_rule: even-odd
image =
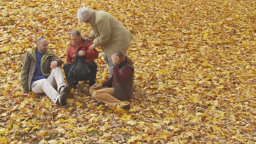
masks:
[[[33,81],[37,81],[39,79],[47,79],[47,76],[43,76],[41,70],[41,59],[43,57],[43,53],[40,53],[36,50],[36,69],[32,78]]]

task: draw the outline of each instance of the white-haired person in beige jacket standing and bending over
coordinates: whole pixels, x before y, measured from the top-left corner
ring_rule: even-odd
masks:
[[[114,16],[104,11],[82,7],[77,11],[77,19],[79,23],[89,23],[92,26],[92,31],[86,38],[89,42],[93,42],[89,49],[102,47],[104,59],[109,66],[109,77],[111,77],[113,75],[112,53],[126,52],[134,37]]]

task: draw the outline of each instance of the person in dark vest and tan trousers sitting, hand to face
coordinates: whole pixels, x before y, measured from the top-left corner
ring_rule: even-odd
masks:
[[[98,101],[98,106],[108,104],[116,108],[129,109],[130,105],[123,101],[133,95],[134,62],[121,51],[114,52],[111,59],[114,65],[113,75],[102,84],[92,85],[89,92]],[[104,88],[105,86],[108,88]]]

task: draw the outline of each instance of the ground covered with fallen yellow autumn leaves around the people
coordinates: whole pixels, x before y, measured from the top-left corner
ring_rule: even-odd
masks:
[[[83,5],[115,16],[135,36],[131,109],[97,107],[87,83],[69,108],[24,94],[26,49],[47,36],[66,62]],[[0,143],[256,142],[255,0],[0,0]],[[102,50],[97,79],[108,77]]]

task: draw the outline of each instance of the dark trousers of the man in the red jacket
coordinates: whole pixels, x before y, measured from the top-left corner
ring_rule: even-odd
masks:
[[[95,62],[89,62],[89,63],[87,63],[87,65],[89,66],[89,69],[91,70],[91,75],[85,79],[89,80],[89,85],[92,86],[95,84],[95,78],[96,78],[96,73],[97,73],[97,64]],[[65,72],[69,87],[76,88],[78,81],[76,81],[74,79],[69,79],[70,67],[71,67],[71,64],[69,64],[69,63],[66,63],[65,65],[63,65],[63,69]]]

